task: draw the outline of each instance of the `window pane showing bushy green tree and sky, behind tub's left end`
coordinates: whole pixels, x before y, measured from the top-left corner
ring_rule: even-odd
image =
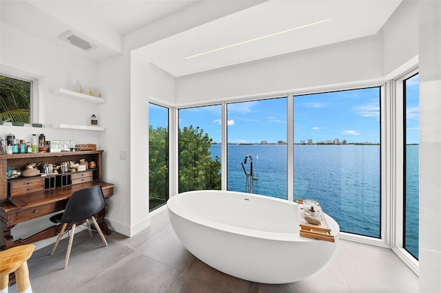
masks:
[[[179,109],[179,193],[220,189],[220,105]]]

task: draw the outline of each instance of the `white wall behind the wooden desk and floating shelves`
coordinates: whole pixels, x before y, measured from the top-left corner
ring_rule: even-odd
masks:
[[[44,133],[46,140],[74,140],[76,143],[97,144],[105,149],[95,131],[54,129],[48,125],[63,123],[87,124],[92,113],[101,116],[99,105],[78,102],[52,94],[53,89],[71,88],[74,80],[98,85],[98,65],[79,57],[74,52],[52,45],[21,30],[1,23],[0,63],[2,68],[17,69],[40,79],[39,99],[41,120],[45,128],[0,126],[0,134],[13,133],[17,139],[30,141],[32,133]],[[105,97],[105,94],[103,94]],[[14,239],[28,237],[39,229],[52,226],[49,216],[17,225],[12,229]],[[48,239],[37,243],[37,248],[52,243]]]

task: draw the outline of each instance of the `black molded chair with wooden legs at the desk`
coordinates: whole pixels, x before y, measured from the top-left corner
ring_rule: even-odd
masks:
[[[72,193],[72,196],[68,200],[68,204],[66,204],[64,212],[50,217],[50,221],[52,221],[53,223],[63,223],[63,226],[61,226],[61,231],[57,237],[57,241],[55,241],[54,248],[52,248],[51,254],[54,254],[55,249],[57,248],[58,243],[61,239],[61,236],[63,236],[65,232],[68,232],[65,231],[68,224],[72,224],[72,228],[70,229],[71,232],[69,237],[68,251],[66,252],[66,258],[64,261],[64,268],[68,266],[76,224],[81,224],[83,221],[85,221],[88,225],[90,237],[92,237],[89,222],[89,220],[92,220],[92,223],[94,224],[96,231],[101,237],[101,240],[103,240],[105,246],[107,246],[107,241],[105,241],[103,232],[101,232],[101,228],[99,228],[99,225],[98,223],[96,223],[96,219],[94,217],[94,215],[99,213],[99,211],[102,210],[104,206],[105,201],[103,188],[101,188],[101,186],[99,185],[96,185],[89,188],[83,188]]]

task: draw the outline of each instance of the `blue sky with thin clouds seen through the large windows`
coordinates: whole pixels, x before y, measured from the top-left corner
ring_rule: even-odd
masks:
[[[418,76],[407,81],[407,143],[418,143]],[[228,142],[287,141],[287,98],[227,105]],[[199,126],[220,142],[220,105],[179,110],[179,126]],[[150,106],[150,124],[167,125],[167,110]],[[380,142],[378,87],[309,94],[294,98],[294,142],[347,140]]]

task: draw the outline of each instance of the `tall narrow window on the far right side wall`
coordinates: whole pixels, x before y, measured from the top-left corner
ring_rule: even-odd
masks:
[[[404,237],[403,248],[418,259],[419,76],[404,80]]]

